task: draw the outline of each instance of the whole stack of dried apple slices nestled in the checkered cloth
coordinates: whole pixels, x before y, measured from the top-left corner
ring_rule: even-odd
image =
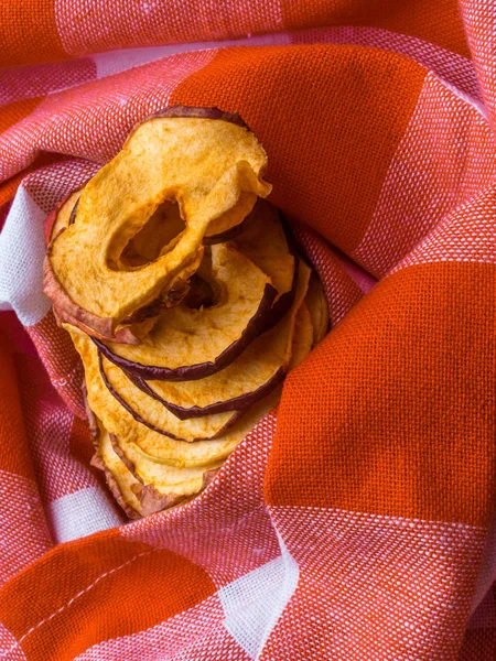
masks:
[[[327,330],[261,199],[266,165],[239,117],[174,107],[47,221],[44,290],[84,362],[94,464],[131,518],[202,491]]]

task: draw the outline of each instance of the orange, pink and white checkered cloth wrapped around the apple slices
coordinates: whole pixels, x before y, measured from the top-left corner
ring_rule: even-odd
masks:
[[[496,2],[4,0],[0,28],[0,659],[496,658]],[[172,104],[260,139],[332,329],[205,492],[127,523],[43,223]]]

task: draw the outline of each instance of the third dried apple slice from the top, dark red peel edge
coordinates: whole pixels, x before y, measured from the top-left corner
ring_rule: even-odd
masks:
[[[273,328],[257,337],[225,369],[196,381],[133,379],[134,383],[162,402],[181,420],[250,409],[257,401],[267,397],[288,371],[295,317],[306,294],[311,273],[303,261],[300,261],[298,272],[298,286],[291,312]],[[309,324],[313,340],[310,316]]]

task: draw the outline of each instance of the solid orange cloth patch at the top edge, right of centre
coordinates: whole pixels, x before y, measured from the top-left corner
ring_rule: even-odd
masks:
[[[283,0],[288,30],[325,25],[370,25],[410,34],[464,57],[470,50],[455,0]]]

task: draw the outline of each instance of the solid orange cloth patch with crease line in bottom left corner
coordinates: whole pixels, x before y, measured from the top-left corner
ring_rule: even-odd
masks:
[[[125,541],[115,532],[97,543],[77,542],[76,553],[73,549],[74,544],[52,551],[37,565],[34,583],[28,571],[2,590],[0,620],[7,628],[21,638],[36,627],[23,644],[29,659],[69,661],[95,642],[147,629],[215,590],[208,575],[188,560]],[[66,575],[63,584],[55,581],[61,573]],[[67,605],[83,592],[82,576],[86,592]],[[57,618],[46,618],[45,602],[35,598],[37,594],[50,595],[54,611],[61,609]],[[157,598],[161,594],[166,600]],[[30,608],[17,607],[20,595],[30,599]]]

